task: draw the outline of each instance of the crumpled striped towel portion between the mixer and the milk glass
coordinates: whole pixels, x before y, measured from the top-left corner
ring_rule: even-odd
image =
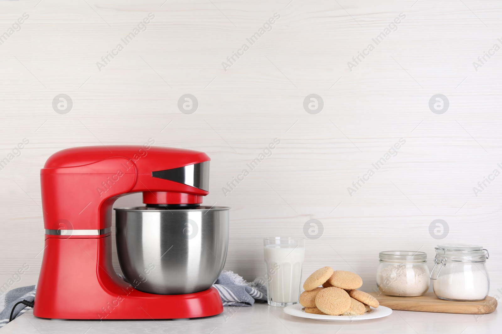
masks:
[[[213,286],[218,290],[223,306],[253,306],[255,299],[267,300],[263,280],[247,283],[232,271],[222,272]]]

